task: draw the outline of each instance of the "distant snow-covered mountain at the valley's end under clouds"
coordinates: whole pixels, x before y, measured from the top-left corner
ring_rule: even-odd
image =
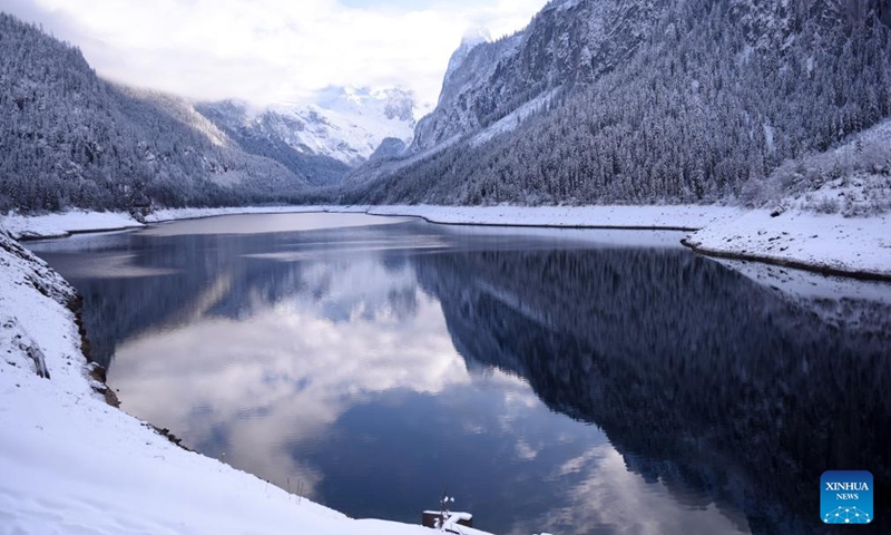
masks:
[[[252,109],[226,100],[196,106],[242,148],[301,173],[316,185],[336,183],[386,138],[409,143],[415,103],[402,89],[330,88],[316,101]]]

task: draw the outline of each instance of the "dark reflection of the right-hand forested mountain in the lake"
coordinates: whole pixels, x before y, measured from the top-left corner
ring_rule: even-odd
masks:
[[[688,507],[707,505],[687,494],[702,489],[757,533],[813,533],[828,467],[870,467],[887,488],[888,302],[844,300],[874,321],[829,322],[683,254],[433,263],[422,281],[469,359],[526,377],[552,409],[596,422],[629,469]]]

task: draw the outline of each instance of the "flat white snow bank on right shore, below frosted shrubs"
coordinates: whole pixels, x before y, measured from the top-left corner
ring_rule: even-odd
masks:
[[[774,213],[775,214],[775,213]],[[891,217],[756,210],[692,234],[704,254],[756,260],[861,279],[891,280]]]

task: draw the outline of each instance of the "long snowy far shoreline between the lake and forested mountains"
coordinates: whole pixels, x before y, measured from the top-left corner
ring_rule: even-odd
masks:
[[[792,210],[728,206],[278,206],[160,210],[148,224],[242,214],[366,213],[420,217],[443,225],[686,231],[693,251],[713,257],[748,260],[816,273],[891,281],[891,220],[843,217]],[[0,216],[13,237],[38,240],[75,233],[139,228],[129,214],[68,212],[42,216]]]

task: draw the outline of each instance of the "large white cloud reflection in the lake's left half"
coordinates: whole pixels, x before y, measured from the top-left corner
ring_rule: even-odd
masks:
[[[313,496],[322,474],[293,458],[294,445],[326,436],[344,411],[375,393],[437,393],[471,381],[439,303],[418,289],[408,266],[392,273],[375,259],[339,270],[306,266],[305,293],[273,307],[258,300],[249,321],[204,313],[226,295],[231,282],[218,278],[190,307],[186,328],[117,348],[110,383],[125,409],[193,446],[222,434],[225,444],[216,446],[227,461],[283,488],[302,481]],[[323,288],[326,298],[317,301]],[[393,302],[398,293],[414,300],[408,313]]]

